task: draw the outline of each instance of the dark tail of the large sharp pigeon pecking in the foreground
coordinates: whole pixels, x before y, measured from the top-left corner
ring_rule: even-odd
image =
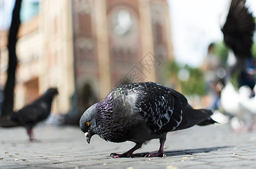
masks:
[[[183,113],[183,121],[176,128],[176,130],[183,130],[194,125],[205,126],[208,124],[216,123],[213,119],[210,118],[210,115],[212,115],[211,110],[193,109],[191,106],[187,106]]]

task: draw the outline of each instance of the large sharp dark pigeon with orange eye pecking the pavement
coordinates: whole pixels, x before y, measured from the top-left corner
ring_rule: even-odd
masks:
[[[133,152],[151,139],[159,139],[160,148],[146,157],[166,157],[167,132],[213,124],[211,114],[211,110],[193,109],[185,96],[172,88],[154,82],[129,83],[90,106],[80,118],[80,128],[88,144],[93,135],[114,143],[136,143],[123,154],[111,153],[114,158],[137,156]]]

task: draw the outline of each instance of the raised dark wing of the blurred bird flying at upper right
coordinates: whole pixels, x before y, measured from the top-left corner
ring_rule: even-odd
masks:
[[[232,0],[222,32],[236,57],[251,57],[254,30],[254,17],[245,7],[245,0]]]

